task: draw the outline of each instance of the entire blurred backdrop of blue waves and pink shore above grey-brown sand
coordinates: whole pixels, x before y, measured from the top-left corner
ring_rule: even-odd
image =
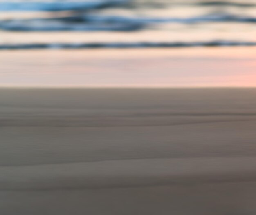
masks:
[[[255,24],[255,0],[1,0],[0,86],[256,86]]]

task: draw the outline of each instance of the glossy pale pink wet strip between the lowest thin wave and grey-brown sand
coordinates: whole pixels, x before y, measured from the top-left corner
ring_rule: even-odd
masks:
[[[0,86],[256,87],[255,47],[0,52]]]

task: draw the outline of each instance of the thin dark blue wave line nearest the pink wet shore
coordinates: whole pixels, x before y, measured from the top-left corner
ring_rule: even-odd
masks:
[[[215,40],[209,42],[91,42],[91,43],[31,43],[1,44],[0,50],[8,49],[111,49],[111,48],[182,48],[256,46],[256,42]]]

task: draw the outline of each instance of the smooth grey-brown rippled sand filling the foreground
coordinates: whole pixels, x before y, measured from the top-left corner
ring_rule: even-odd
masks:
[[[0,89],[1,215],[254,215],[256,89]]]

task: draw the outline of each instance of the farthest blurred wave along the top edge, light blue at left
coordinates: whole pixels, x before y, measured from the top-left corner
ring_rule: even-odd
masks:
[[[173,6],[200,6],[200,7],[256,7],[252,2],[234,2],[234,1],[139,1],[139,0],[65,0],[65,1],[3,1],[0,2],[0,11],[67,11],[81,9],[102,9],[106,7],[116,7],[124,5],[129,8],[164,8]]]

